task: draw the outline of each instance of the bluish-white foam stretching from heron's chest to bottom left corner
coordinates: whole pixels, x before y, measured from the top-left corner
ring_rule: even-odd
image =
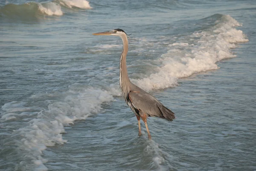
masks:
[[[24,161],[20,162],[17,167],[35,168],[37,171],[46,171],[47,167],[44,165],[47,162],[42,158],[42,151],[47,149],[47,146],[54,146],[55,144],[63,144],[67,140],[63,139],[62,133],[65,132],[64,126],[73,124],[75,120],[86,119],[93,113],[99,113],[101,104],[113,100],[115,92],[109,92],[93,87],[83,87],[80,84],[73,84],[69,90],[63,93],[53,94],[38,94],[33,95],[31,99],[44,99],[48,108],[37,112],[36,117],[29,119],[26,126],[14,130],[14,135],[20,137],[17,142],[18,151],[22,155]],[[45,100],[49,98],[60,98],[62,100]],[[29,112],[20,113],[20,108],[26,108],[26,111],[35,110],[35,107],[26,107],[26,103],[13,101],[3,105],[1,121],[15,119],[20,115],[29,115]],[[17,111],[16,113],[8,113],[8,111]],[[30,112],[31,115],[34,112]],[[25,120],[26,121],[26,120]],[[31,161],[30,163],[27,161]],[[26,161],[26,162],[25,162]],[[34,169],[33,169],[34,170]]]

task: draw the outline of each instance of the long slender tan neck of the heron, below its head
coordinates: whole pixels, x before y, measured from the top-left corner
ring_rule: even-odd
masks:
[[[127,67],[126,67],[126,55],[128,52],[128,39],[126,35],[120,36],[123,42],[123,50],[120,56],[120,75],[119,75],[119,85],[122,91],[122,96],[127,99],[127,95],[131,90],[131,81],[128,77]]]

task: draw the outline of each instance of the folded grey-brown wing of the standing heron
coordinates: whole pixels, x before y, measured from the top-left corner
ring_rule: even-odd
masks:
[[[157,116],[169,121],[175,119],[175,113],[167,109],[154,96],[142,89],[138,91],[131,91],[128,93],[128,97],[132,105],[137,108],[137,110],[147,113],[149,116]]]

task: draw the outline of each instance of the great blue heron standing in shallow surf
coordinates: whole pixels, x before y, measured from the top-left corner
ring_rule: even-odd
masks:
[[[139,136],[141,135],[140,130],[140,118],[145,123],[148,139],[151,139],[151,135],[148,130],[147,117],[157,116],[168,121],[175,119],[175,113],[167,109],[163,104],[160,103],[154,96],[145,92],[140,87],[133,84],[127,73],[126,68],[126,55],[128,52],[128,39],[127,34],[122,29],[114,29],[108,32],[93,33],[93,35],[113,35],[122,38],[123,49],[120,56],[120,75],[119,75],[119,86],[122,91],[122,97],[125,99],[126,104],[135,113],[138,125],[139,125]]]

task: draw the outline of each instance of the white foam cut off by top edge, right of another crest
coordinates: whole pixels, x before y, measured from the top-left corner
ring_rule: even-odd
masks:
[[[58,0],[57,2],[68,8],[92,9],[87,0]]]

